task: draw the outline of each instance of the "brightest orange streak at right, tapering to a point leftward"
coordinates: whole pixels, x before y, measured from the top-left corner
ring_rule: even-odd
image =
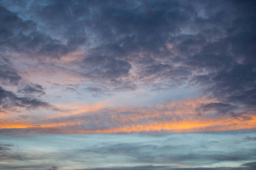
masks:
[[[250,121],[241,122],[239,120],[215,120],[215,121],[180,121],[156,124],[142,124],[124,126],[117,129],[105,129],[96,131],[84,131],[84,133],[133,133],[141,131],[170,131],[172,133],[196,133],[207,131],[223,131],[223,130],[239,130],[239,129],[255,129],[255,118]]]

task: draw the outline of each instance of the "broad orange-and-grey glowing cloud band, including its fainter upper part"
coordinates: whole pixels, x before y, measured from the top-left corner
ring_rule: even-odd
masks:
[[[80,107],[73,113],[55,114],[51,118],[35,122],[13,119],[0,120],[0,129],[27,128],[39,133],[133,133],[163,131],[171,133],[195,133],[207,131],[256,129],[254,112],[244,114],[250,118],[197,114],[201,104],[217,102],[206,99],[189,99],[156,105],[152,108],[104,108],[96,104]],[[92,127],[93,126],[93,127]]]

